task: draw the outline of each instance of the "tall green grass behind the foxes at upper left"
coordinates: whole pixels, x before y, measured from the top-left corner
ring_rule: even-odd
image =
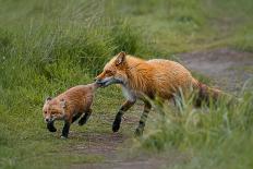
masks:
[[[27,3],[2,1],[2,13],[13,15],[2,17],[7,25],[0,27],[4,89],[31,86],[43,93],[56,88],[56,83],[65,88],[95,76],[121,50],[141,56],[153,52],[144,48],[140,32],[126,21],[105,16],[104,1]],[[10,10],[9,5],[19,9]]]

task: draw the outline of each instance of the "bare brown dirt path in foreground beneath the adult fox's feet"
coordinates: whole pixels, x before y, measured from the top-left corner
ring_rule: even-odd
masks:
[[[140,109],[140,107],[137,109]],[[134,118],[133,116],[125,117],[122,122],[122,125],[135,126],[136,124],[136,117]],[[74,137],[84,137],[86,140],[85,143],[88,144],[72,145],[70,147],[71,150],[79,154],[104,157],[101,162],[72,165],[71,168],[74,169],[156,169],[173,165],[185,158],[176,150],[168,153],[168,156],[152,156],[143,153],[126,154],[129,152],[128,147],[131,147],[132,141],[128,142],[128,138],[131,136],[122,134],[121,132],[109,134],[72,133],[72,135]]]

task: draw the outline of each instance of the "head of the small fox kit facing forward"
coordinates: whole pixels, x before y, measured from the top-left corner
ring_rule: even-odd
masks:
[[[65,116],[67,101],[64,99],[52,99],[48,97],[43,107],[45,122],[63,119]]]

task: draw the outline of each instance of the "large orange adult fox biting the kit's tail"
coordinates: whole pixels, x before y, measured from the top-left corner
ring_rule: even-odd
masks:
[[[104,71],[96,77],[96,83],[106,87],[110,84],[120,84],[126,101],[119,109],[112,131],[120,129],[122,114],[130,109],[136,101],[144,101],[144,111],[141,116],[136,135],[144,131],[147,114],[152,108],[146,99],[159,97],[161,100],[174,98],[180,88],[184,93],[190,88],[198,88],[200,99],[207,100],[210,97],[216,98],[219,95],[218,89],[213,89],[195,80],[192,74],[180,63],[165,60],[153,59],[142,60],[125,52],[120,52],[113,57],[104,68]]]

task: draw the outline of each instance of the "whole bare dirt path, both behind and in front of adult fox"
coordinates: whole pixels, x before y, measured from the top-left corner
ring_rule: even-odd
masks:
[[[253,53],[239,52],[230,49],[217,49],[179,55],[181,63],[192,71],[209,76],[221,89],[239,90],[242,84],[253,77]],[[141,106],[136,110],[141,111]],[[130,113],[129,113],[130,114]],[[122,125],[134,128],[137,118],[125,117]],[[122,129],[121,129],[122,130]],[[182,161],[185,157],[177,152],[168,155],[135,155],[125,156],[119,147],[128,149],[124,142],[129,137],[122,133],[80,133],[85,137],[87,145],[73,145],[71,149],[80,154],[100,155],[105,158],[103,162],[73,165],[75,169],[156,169],[165,165],[173,165]],[[79,136],[79,135],[77,135]]]

